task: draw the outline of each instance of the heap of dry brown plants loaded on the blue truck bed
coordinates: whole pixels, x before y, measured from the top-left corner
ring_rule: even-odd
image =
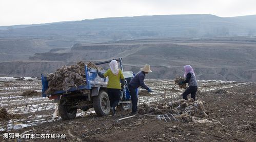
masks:
[[[53,93],[56,90],[67,91],[71,87],[77,87],[86,84],[85,65],[88,68],[98,68],[92,62],[77,62],[76,65],[62,66],[55,73],[47,75],[48,89],[46,93]]]

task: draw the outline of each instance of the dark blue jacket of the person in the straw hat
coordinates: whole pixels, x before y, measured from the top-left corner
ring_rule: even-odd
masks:
[[[145,73],[141,71],[132,78],[132,80],[129,83],[129,86],[131,86],[132,88],[139,88],[141,86],[142,88],[148,90],[148,86],[144,84],[144,79]]]

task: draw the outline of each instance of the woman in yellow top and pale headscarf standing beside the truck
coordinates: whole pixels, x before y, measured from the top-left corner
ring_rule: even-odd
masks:
[[[125,78],[122,70],[118,68],[118,63],[116,60],[112,60],[109,63],[109,66],[110,66],[110,69],[108,69],[105,74],[100,73],[98,70],[97,70],[97,74],[101,78],[108,77],[107,91],[108,91],[108,98],[110,101],[110,112],[112,113],[112,115],[115,115],[115,107],[119,103],[121,88],[123,89],[124,87]],[[121,81],[121,84],[120,84],[120,81]]]

